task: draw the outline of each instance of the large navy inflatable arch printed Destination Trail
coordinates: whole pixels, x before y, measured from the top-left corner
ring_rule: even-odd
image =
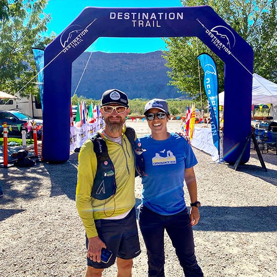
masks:
[[[251,126],[253,51],[209,6],[84,9],[45,49],[45,161],[62,163],[69,159],[72,62],[102,36],[196,36],[219,56],[225,63],[223,155],[226,162],[235,163]],[[250,145],[242,162],[249,157]]]

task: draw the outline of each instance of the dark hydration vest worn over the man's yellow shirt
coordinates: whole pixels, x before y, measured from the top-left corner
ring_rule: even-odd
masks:
[[[141,149],[135,146],[135,131],[131,127],[126,127],[124,133],[132,146],[135,157],[135,176],[144,175],[144,159]],[[97,169],[91,190],[91,196],[98,200],[104,200],[114,195],[116,192],[115,170],[108,154],[108,147],[99,133],[95,134],[91,141],[93,142],[93,151],[97,159]]]

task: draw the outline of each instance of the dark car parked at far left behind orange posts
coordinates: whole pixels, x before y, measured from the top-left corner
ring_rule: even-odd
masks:
[[[7,123],[8,126],[11,126],[11,130],[8,130],[8,137],[22,137],[22,127],[24,124],[30,122],[35,125],[43,125],[42,120],[35,119],[30,115],[20,112],[20,111],[0,111],[0,136],[3,137],[3,124]],[[33,137],[33,132],[28,132],[26,128],[26,138]],[[37,130],[37,138],[42,137],[42,129]]]

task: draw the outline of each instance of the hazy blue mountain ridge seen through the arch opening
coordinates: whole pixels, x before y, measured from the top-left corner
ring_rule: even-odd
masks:
[[[148,53],[84,52],[72,63],[71,95],[98,100],[117,88],[133,98],[179,98],[184,94],[168,86],[170,79],[162,51]],[[91,57],[89,58],[89,56]],[[88,62],[89,59],[89,62]],[[88,64],[87,64],[88,62]],[[87,67],[86,67],[87,65]],[[83,74],[84,68],[86,70]]]

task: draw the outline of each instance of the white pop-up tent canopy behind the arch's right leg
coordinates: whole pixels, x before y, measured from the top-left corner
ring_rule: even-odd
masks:
[[[221,106],[224,106],[224,97],[223,91],[219,94],[219,105]],[[277,84],[254,73],[252,83],[252,105],[257,104],[277,104]]]

